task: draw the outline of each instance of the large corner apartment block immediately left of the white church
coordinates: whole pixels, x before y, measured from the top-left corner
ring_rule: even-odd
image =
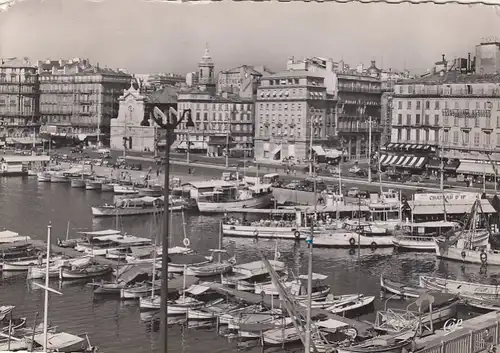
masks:
[[[68,140],[106,142],[131,76],[81,59],[39,62],[38,71],[43,130]]]

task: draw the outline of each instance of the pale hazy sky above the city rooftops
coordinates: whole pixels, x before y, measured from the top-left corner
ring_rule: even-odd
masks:
[[[82,57],[131,73],[195,71],[208,44],[216,70],[287,58],[423,72],[500,36],[483,5],[24,0],[0,13],[0,57]]]

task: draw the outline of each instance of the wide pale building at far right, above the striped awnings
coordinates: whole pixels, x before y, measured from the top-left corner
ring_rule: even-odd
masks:
[[[446,158],[500,161],[500,75],[441,71],[397,84],[391,143],[430,145]]]

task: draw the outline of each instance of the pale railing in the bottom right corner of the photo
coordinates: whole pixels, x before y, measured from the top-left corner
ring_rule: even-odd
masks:
[[[446,325],[445,325],[446,326]],[[482,353],[490,345],[497,346],[500,316],[496,312],[467,321],[453,321],[447,331],[436,332],[427,342],[418,344],[419,353]],[[488,339],[489,338],[489,339]]]

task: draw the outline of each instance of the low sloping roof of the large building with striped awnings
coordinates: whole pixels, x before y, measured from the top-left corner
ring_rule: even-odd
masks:
[[[439,73],[403,80],[401,84],[460,84],[460,83],[500,83],[500,74],[466,74],[459,71],[448,71],[442,76]]]

